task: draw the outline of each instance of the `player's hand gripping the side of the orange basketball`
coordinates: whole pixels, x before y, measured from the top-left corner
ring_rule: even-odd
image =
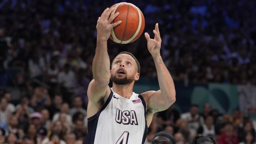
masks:
[[[114,7],[111,9],[107,8],[103,11],[101,16],[97,21],[97,39],[100,41],[107,41],[110,37],[111,30],[113,27],[119,25],[122,21],[112,23],[112,21],[119,15],[119,12],[116,12],[114,15],[111,15],[111,12],[114,10]]]

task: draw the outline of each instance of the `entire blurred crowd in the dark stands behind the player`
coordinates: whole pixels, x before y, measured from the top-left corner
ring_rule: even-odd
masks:
[[[106,7],[117,2],[121,1],[0,2],[0,143],[81,143],[86,134],[86,92],[92,79],[96,22]],[[256,85],[254,1],[127,2],[142,10],[144,31],[151,37],[159,23],[161,55],[174,80]],[[137,57],[140,76],[156,78],[143,35],[130,44],[108,41],[111,60],[121,51]],[[20,100],[11,101],[13,92],[5,87],[18,89]],[[216,140],[237,137],[236,142],[242,142],[250,134],[255,139],[255,130],[248,130],[251,122],[240,117],[239,111],[216,118],[193,113],[195,107],[187,114],[175,112],[174,117],[172,108],[156,114],[147,140],[166,129],[187,143],[207,128]]]

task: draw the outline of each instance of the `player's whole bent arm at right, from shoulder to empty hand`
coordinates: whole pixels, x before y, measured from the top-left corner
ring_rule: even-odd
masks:
[[[148,42],[148,50],[154,59],[160,90],[148,91],[144,95],[148,96],[148,109],[151,108],[153,112],[158,112],[166,110],[175,102],[176,93],[174,81],[160,55],[161,37],[158,23],[156,23],[153,32],[155,34],[154,39],[150,39],[148,33],[145,33],[145,37]]]

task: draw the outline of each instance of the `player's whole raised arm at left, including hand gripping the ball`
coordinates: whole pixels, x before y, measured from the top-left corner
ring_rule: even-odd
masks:
[[[110,37],[111,29],[121,23],[111,23],[118,13],[110,17],[114,9],[105,9],[97,21],[97,45],[95,56],[92,62],[92,80],[88,87],[89,102],[96,103],[104,97],[110,80],[110,59],[107,52],[107,40]],[[110,17],[110,18],[109,18]]]

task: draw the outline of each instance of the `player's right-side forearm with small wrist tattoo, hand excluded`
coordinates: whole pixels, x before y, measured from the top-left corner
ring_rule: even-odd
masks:
[[[167,70],[161,55],[153,57],[155,62],[155,67],[158,75],[159,87],[161,90],[161,96],[168,103],[173,103],[176,100],[176,93],[174,87],[174,81],[171,77],[171,74]]]

